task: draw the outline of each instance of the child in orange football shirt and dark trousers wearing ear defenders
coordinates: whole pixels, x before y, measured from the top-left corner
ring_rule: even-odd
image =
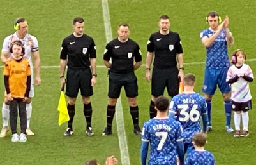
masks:
[[[26,142],[27,112],[25,102],[29,98],[31,70],[27,59],[22,57],[24,55],[24,48],[20,41],[14,41],[11,44],[10,52],[12,53],[13,59],[5,63],[3,74],[6,97],[10,104],[11,141]],[[20,136],[17,134],[18,108],[21,129]]]

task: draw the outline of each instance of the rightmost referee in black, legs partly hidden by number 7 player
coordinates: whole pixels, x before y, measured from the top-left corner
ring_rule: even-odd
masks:
[[[169,30],[170,22],[167,15],[162,15],[158,22],[160,30],[151,34],[147,42],[146,79],[151,82],[150,118],[156,117],[154,101],[163,95],[167,87],[172,98],[179,92],[179,81],[183,81],[183,49],[179,34]],[[150,66],[153,60],[152,79]],[[177,60],[176,60],[177,59]],[[179,69],[177,69],[179,63]]]

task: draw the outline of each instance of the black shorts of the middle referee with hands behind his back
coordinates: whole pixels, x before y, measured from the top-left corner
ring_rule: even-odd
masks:
[[[134,98],[138,96],[137,77],[134,72],[127,74],[109,74],[109,98],[119,98],[121,88],[124,86],[126,96]]]

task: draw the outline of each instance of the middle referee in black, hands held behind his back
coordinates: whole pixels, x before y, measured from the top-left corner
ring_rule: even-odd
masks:
[[[104,65],[110,69],[109,74],[109,105],[107,105],[107,127],[102,136],[112,134],[112,121],[115,114],[117,99],[124,86],[130,105],[130,113],[133,120],[133,132],[141,135],[139,127],[139,108],[136,97],[138,96],[137,77],[134,70],[141,65],[142,56],[140,47],[135,41],[129,39],[129,25],[121,23],[118,27],[118,38],[110,41],[103,56]],[[110,58],[112,62],[110,63]],[[135,60],[135,64],[134,64]]]

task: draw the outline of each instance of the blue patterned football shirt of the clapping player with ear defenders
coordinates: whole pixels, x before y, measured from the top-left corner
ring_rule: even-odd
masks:
[[[208,28],[200,33],[200,39],[205,36],[211,37],[213,34],[215,34],[215,31]],[[223,69],[229,67],[225,29],[222,29],[211,46],[206,47],[206,67],[209,69]]]

